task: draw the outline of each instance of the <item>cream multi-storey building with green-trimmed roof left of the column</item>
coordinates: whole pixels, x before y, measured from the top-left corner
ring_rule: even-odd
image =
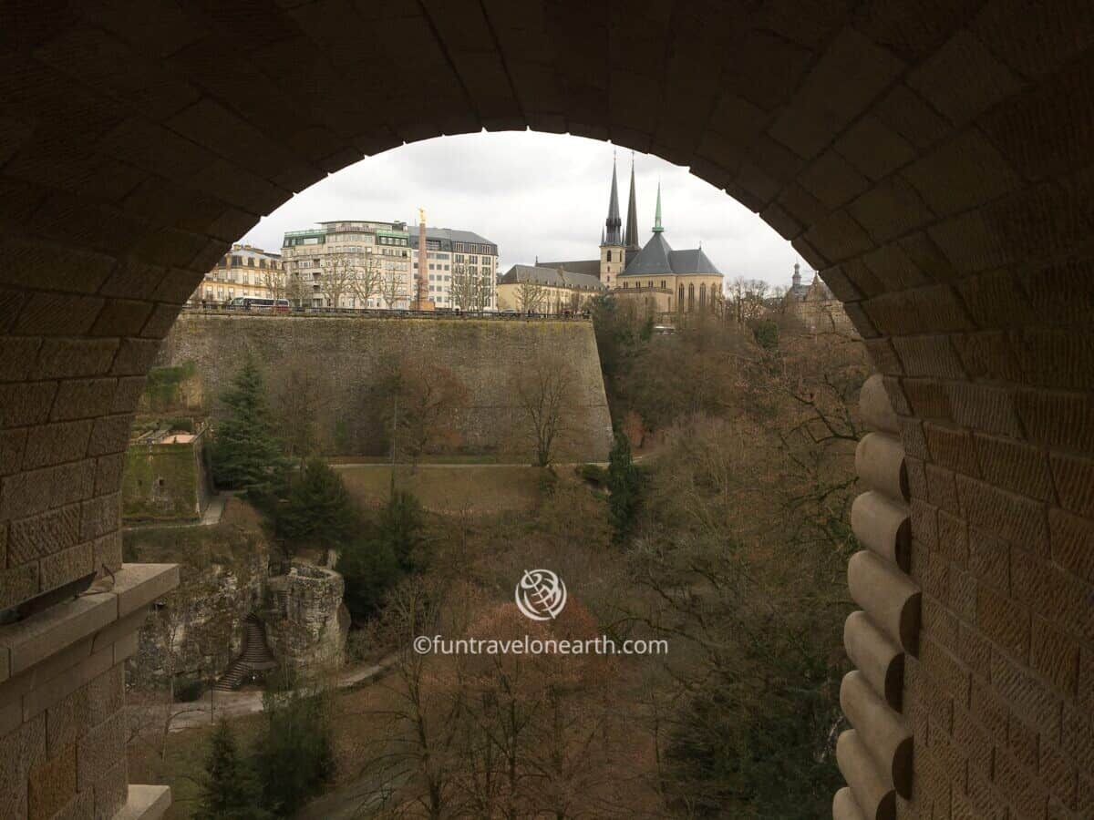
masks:
[[[405,222],[317,225],[284,235],[281,259],[290,302],[350,309],[409,305],[410,233]]]

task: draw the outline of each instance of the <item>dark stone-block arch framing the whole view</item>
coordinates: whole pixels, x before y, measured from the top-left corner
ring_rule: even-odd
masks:
[[[70,537],[45,554],[9,546],[0,608],[120,565],[121,454],[144,373],[202,271],[261,214],[427,137],[612,139],[689,166],[790,239],[883,374],[900,449],[863,469],[907,477],[923,623],[900,705],[922,781],[911,810],[1090,813],[1084,4],[243,9],[7,15],[0,534],[23,543],[61,522]],[[376,49],[359,47],[363,31]],[[927,735],[929,705],[952,719]],[[862,800],[891,795],[877,785],[852,783]]]

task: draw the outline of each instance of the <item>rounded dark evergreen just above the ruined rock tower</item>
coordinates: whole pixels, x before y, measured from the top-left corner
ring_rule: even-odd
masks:
[[[317,458],[304,465],[303,472],[277,509],[277,534],[290,553],[304,546],[339,549],[358,526],[349,492],[341,477]]]

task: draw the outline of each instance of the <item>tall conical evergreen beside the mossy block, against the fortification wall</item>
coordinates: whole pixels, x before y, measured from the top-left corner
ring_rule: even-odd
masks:
[[[212,447],[217,483],[268,490],[284,469],[286,459],[274,430],[263,375],[249,354],[220,398],[228,413],[216,426]]]

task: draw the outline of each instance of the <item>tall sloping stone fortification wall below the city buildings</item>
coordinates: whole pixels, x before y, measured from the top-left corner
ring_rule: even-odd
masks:
[[[419,376],[449,378],[458,386],[451,390],[456,407],[443,422],[451,435],[439,440],[445,449],[529,458],[528,425],[517,395],[548,360],[561,363],[572,383],[559,457],[604,460],[610,447],[600,355],[586,321],[183,314],[156,364],[193,361],[216,414],[214,397],[248,352],[271,393],[293,368],[305,368],[317,379],[310,389],[324,396],[316,422],[328,453],[386,453],[387,423],[377,410],[383,403],[377,389],[398,362],[417,363]]]

